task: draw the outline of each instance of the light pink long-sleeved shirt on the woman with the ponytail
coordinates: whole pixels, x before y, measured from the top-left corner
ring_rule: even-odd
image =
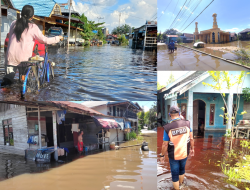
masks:
[[[9,46],[5,59],[6,65],[17,66],[22,61],[28,61],[32,56],[35,40],[43,44],[54,44],[60,41],[59,36],[45,37],[36,24],[29,23],[29,29],[24,30],[18,42],[14,34],[15,23],[16,21],[13,21],[10,26]]]

